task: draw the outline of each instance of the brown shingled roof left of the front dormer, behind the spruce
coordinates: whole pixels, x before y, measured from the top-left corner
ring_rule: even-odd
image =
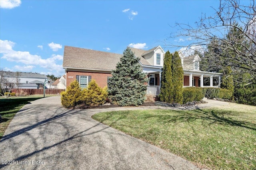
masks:
[[[142,65],[151,65],[142,57],[146,50],[131,48],[136,57],[140,58]],[[63,67],[89,70],[113,70],[120,61],[122,54],[83,49],[78,47],[64,47]]]

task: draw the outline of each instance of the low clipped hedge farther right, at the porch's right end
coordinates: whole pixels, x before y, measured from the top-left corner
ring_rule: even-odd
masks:
[[[232,90],[224,89],[224,88],[204,88],[205,97],[208,99],[212,98],[221,98],[227,100],[234,100]]]

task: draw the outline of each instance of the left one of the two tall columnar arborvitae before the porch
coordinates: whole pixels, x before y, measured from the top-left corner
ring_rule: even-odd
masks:
[[[173,55],[167,51],[164,55],[164,68],[161,79],[161,89],[159,98],[162,102],[173,103],[172,88],[172,57]]]

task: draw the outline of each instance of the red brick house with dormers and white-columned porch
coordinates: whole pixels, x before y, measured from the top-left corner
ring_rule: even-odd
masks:
[[[165,51],[161,46],[150,50],[130,48],[136,57],[140,58],[142,71],[150,78],[148,82],[147,94],[158,95],[161,86],[161,73],[164,65]],[[205,84],[205,77],[210,79],[210,87],[218,87],[213,84],[213,77],[218,77],[220,83],[221,73],[203,72],[199,69],[198,55],[185,57],[179,51],[184,70],[184,87],[201,86]],[[66,72],[66,86],[74,80],[78,80],[80,87],[86,88],[91,79],[96,80],[100,87],[107,86],[111,70],[116,69],[116,64],[120,61],[122,54],[82,49],[77,47],[64,47],[63,68]]]

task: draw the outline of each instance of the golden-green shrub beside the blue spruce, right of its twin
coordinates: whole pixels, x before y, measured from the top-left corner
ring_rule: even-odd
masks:
[[[108,96],[107,87],[100,88],[95,80],[88,84],[88,90],[83,90],[83,101],[88,106],[99,106],[106,103]]]

